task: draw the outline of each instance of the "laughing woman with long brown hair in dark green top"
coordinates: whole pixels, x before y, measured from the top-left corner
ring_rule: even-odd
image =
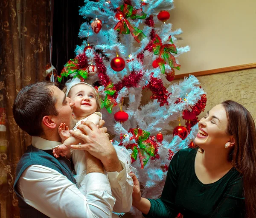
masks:
[[[134,176],[134,207],[150,218],[256,218],[256,128],[250,112],[225,101],[198,126],[198,150],[175,154],[159,199],[142,198]]]

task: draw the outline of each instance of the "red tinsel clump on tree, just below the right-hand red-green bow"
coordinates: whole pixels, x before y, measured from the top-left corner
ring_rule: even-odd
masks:
[[[153,76],[153,73],[151,73],[150,76],[150,82],[148,85],[143,86],[144,88],[149,88],[152,92],[151,99],[157,99],[157,102],[160,102],[160,107],[163,105],[169,105],[167,99],[172,93],[169,93],[165,86],[163,85],[162,79],[157,79]]]

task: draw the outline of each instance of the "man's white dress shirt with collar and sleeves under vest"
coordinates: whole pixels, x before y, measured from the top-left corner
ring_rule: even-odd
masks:
[[[60,144],[32,137],[32,145],[41,150],[52,150]],[[27,204],[50,218],[116,217],[112,216],[115,198],[111,196],[111,190],[113,195],[121,199],[115,212],[128,212],[132,203],[133,182],[124,165],[120,173],[86,175],[83,186],[86,188],[85,194],[58,171],[42,165],[31,165],[21,175],[18,191]]]

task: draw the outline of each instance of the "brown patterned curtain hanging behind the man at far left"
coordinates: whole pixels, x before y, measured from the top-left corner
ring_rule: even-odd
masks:
[[[50,0],[0,0],[0,218],[18,218],[15,168],[31,137],[12,104],[24,86],[44,80],[49,62]]]

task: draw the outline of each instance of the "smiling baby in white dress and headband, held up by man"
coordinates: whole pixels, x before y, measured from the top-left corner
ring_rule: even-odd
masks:
[[[77,126],[81,124],[81,121],[91,121],[95,125],[99,125],[99,121],[102,119],[102,113],[99,112],[99,103],[95,89],[91,85],[81,82],[78,78],[73,78],[72,80],[67,81],[66,85],[66,96],[70,97],[75,102],[75,105],[73,106],[73,114],[78,120],[73,130],[81,131],[77,129]],[[56,158],[60,155],[70,156],[70,145],[79,144],[81,143],[81,140],[74,136],[70,136],[69,129],[65,124],[61,124],[58,131],[61,139],[63,140],[63,144],[56,147],[53,150],[53,154]],[[114,148],[124,170],[120,173],[106,172],[108,177],[111,176],[111,191],[113,197],[116,198],[113,211],[128,212],[131,209],[133,191],[133,181],[132,178],[128,176],[128,173],[130,173],[131,170],[133,173],[136,173],[136,169],[130,166],[130,151],[123,146],[114,146]],[[83,181],[86,176],[86,159],[84,150],[71,150],[71,157],[77,175],[76,184],[83,193]],[[113,173],[116,178],[113,178]],[[123,179],[124,177],[126,178],[125,181]],[[115,215],[113,215],[113,217],[115,217]]]

